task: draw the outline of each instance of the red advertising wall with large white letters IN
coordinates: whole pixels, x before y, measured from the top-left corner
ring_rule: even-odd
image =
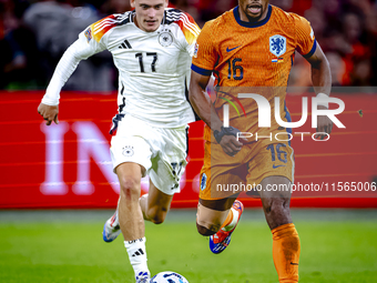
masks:
[[[119,189],[115,175],[109,173],[111,163],[106,154],[116,94],[63,92],[60,124],[50,128],[43,125],[37,113],[42,95],[42,92],[30,91],[0,92],[0,209],[114,208]],[[346,129],[334,127],[326,142],[313,141],[310,135],[300,141],[300,135],[294,135],[295,183],[323,188],[327,183],[329,189],[337,182],[370,184],[377,181],[377,97],[334,95],[345,102],[346,109],[337,118]],[[293,121],[300,118],[300,99],[287,97]],[[363,117],[358,110],[363,110]],[[51,138],[52,132],[60,132],[54,135],[60,138]],[[294,132],[314,133],[310,117]],[[202,133],[202,122],[191,124],[190,163],[182,192],[174,196],[173,206],[196,206],[198,173],[203,164]],[[48,179],[61,180],[61,183],[45,183]],[[143,192],[147,190],[146,182]],[[292,206],[377,208],[376,196],[377,192],[370,190],[294,193]],[[244,199],[244,203],[261,205],[259,200],[249,198]]]

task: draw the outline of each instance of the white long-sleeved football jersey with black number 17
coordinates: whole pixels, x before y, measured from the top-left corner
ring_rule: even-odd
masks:
[[[163,128],[194,121],[186,94],[200,28],[190,14],[171,8],[153,32],[139,29],[134,17],[135,11],[112,14],[81,32],[58,64],[44,102],[57,104],[67,73],[80,60],[108,49],[119,70],[119,113],[113,128],[124,113]]]

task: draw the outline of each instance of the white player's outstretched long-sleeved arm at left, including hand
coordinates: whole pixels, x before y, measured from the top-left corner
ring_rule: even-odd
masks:
[[[110,18],[113,17],[114,16],[104,18],[81,32],[79,39],[65,50],[60,59],[42,102],[38,107],[38,113],[47,121],[47,125],[50,125],[52,122],[59,123],[60,91],[79,62],[106,49],[103,36],[109,28],[103,27],[109,27],[108,22],[110,22]]]

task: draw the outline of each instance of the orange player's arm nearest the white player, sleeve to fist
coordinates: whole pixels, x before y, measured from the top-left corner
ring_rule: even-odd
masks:
[[[217,142],[226,154],[233,156],[241,150],[242,143],[222,127],[223,122],[220,120],[211,98],[206,92],[206,87],[218,58],[213,40],[213,21],[206,23],[196,40],[191,68],[188,99],[196,114],[211,130],[221,133],[222,138],[217,140]]]

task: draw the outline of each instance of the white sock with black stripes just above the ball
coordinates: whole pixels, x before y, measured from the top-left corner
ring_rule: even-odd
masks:
[[[135,275],[140,272],[151,274],[146,265],[145,241],[145,236],[133,241],[124,241],[124,246],[128,250],[130,263]]]

